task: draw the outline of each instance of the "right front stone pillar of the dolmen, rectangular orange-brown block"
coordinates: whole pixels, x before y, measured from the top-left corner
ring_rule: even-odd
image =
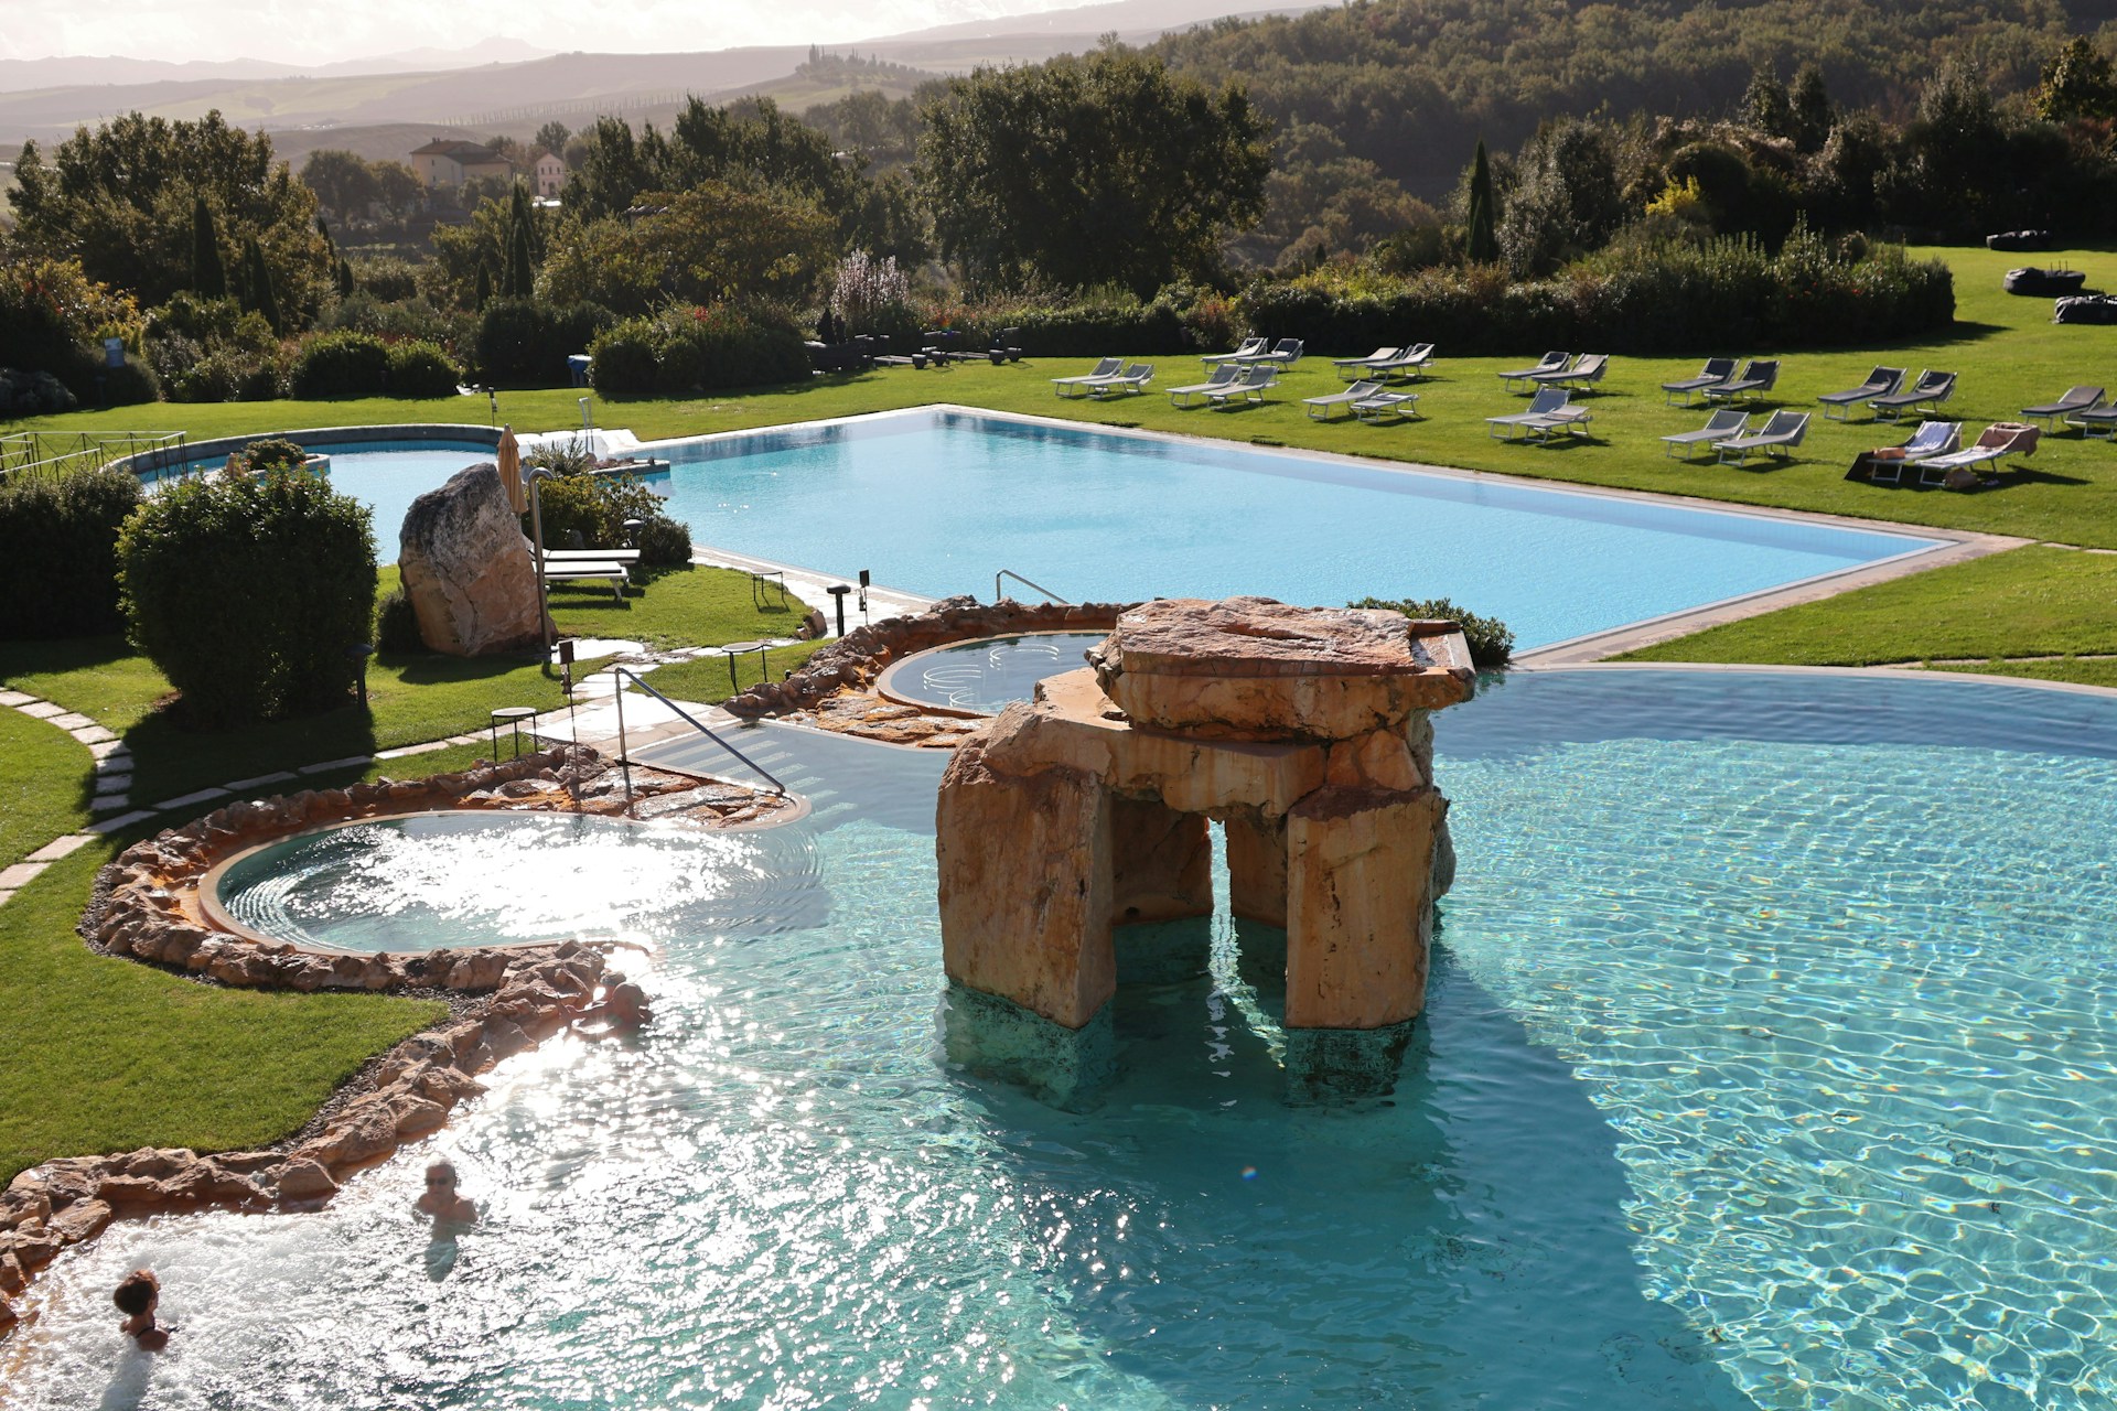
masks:
[[[1433,789],[1317,789],[1287,814],[1287,1028],[1380,1028],[1427,1001]]]

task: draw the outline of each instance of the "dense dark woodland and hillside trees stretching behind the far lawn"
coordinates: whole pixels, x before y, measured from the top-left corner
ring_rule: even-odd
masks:
[[[0,415],[548,383],[591,343],[608,391],[688,391],[798,374],[807,334],[1329,336],[1355,303],[1600,309],[1579,290],[1643,300],[1672,271],[1755,303],[1787,260],[1895,290],[1867,326],[1912,328],[1950,300],[1871,267],[1888,241],[2117,233],[2106,8],[1355,0],[800,116],[694,99],[667,129],[500,144],[563,154],[559,207],[349,152],[294,178],[218,116],[133,114],[21,157]]]

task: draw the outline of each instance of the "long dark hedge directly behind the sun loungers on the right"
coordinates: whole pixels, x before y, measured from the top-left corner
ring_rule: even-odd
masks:
[[[1327,267],[1243,292],[1251,330],[1351,349],[1421,338],[1465,355],[1524,347],[1681,353],[1715,347],[1846,347],[1946,330],[1948,264],[1899,248],[1857,258],[1795,231],[1776,256],[1751,239],[1613,245],[1552,279],[1512,283],[1497,267],[1408,279]]]

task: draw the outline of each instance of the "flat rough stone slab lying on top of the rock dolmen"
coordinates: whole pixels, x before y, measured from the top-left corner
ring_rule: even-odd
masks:
[[[1351,740],[1476,681],[1452,622],[1257,597],[1141,603],[1088,660],[1133,721],[1228,740]]]

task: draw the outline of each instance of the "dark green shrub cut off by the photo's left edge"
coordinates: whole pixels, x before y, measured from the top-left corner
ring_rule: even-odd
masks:
[[[0,639],[119,630],[119,529],[140,508],[123,470],[0,480]]]

